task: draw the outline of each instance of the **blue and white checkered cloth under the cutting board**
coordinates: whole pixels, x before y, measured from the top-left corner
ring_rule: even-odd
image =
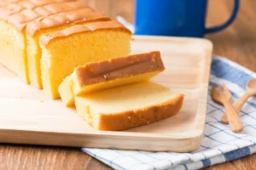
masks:
[[[148,152],[140,150],[82,150],[114,169],[199,169],[225,161],[232,161],[256,152],[256,98],[251,98],[240,112],[244,130],[232,133],[229,125],[219,122],[224,108],[212,101],[212,85],[225,83],[238,99],[245,93],[246,82],[256,78],[252,71],[228,59],[213,57],[207,102],[204,138],[199,150],[192,153]]]

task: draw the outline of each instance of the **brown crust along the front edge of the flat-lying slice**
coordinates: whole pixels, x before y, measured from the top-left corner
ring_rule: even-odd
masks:
[[[119,114],[100,114],[98,130],[117,131],[157,122],[174,116],[182,108],[183,94],[161,105],[152,105],[137,111],[124,111]]]

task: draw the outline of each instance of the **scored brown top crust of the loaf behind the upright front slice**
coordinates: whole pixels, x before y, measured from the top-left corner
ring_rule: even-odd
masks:
[[[87,20],[110,20],[82,0],[30,0],[9,3],[0,8],[0,18],[15,26],[18,31],[26,27],[26,32],[31,36],[44,28]]]

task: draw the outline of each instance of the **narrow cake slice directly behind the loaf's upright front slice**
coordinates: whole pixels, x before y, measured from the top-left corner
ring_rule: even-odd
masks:
[[[40,65],[42,52],[39,37],[48,32],[61,31],[72,25],[110,19],[105,14],[88,7],[82,0],[66,0],[60,3],[56,3],[55,0],[34,10],[42,17],[32,20],[26,26],[26,54],[30,82],[32,86],[41,89],[43,88]]]

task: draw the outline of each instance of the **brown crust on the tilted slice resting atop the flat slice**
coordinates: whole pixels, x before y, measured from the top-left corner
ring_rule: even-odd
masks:
[[[89,63],[75,69],[79,86],[108,82],[122,77],[132,77],[152,71],[164,71],[159,51],[134,54],[116,59]]]

